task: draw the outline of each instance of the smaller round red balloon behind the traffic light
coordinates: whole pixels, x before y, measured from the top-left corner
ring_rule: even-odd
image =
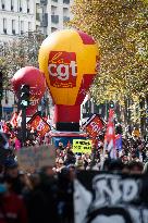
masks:
[[[44,73],[34,66],[20,69],[11,79],[14,92],[18,97],[21,85],[29,85],[29,107],[26,109],[26,115],[33,115],[46,91],[46,79]]]

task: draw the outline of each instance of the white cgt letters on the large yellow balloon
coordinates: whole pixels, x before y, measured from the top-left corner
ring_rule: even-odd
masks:
[[[71,61],[70,64],[49,64],[48,71],[51,76],[57,76],[60,80],[67,80],[70,77],[70,69],[72,70],[72,76],[76,76],[76,62]]]

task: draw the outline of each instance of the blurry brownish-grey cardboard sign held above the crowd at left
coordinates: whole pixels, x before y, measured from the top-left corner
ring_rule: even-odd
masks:
[[[17,153],[21,169],[33,170],[44,165],[54,165],[55,149],[52,145],[22,148]]]

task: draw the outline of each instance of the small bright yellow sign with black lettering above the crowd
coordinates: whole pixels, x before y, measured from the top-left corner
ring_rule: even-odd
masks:
[[[85,140],[85,139],[73,139],[73,152],[79,152],[79,153],[91,153],[91,140]]]

